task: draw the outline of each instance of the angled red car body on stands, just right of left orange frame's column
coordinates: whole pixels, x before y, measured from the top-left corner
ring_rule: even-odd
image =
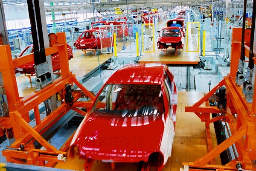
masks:
[[[107,35],[104,34],[104,31],[107,32]],[[75,41],[74,46],[76,46],[76,49],[82,50],[101,49],[111,47],[111,42],[113,46],[113,41],[111,41],[111,37],[108,35],[108,30],[90,29],[82,32],[79,38]]]

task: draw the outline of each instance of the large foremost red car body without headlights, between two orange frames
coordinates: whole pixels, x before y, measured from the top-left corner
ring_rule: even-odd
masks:
[[[158,161],[172,152],[177,90],[164,65],[134,64],[104,84],[70,145],[70,155],[103,162]],[[76,147],[76,148],[75,148]]]

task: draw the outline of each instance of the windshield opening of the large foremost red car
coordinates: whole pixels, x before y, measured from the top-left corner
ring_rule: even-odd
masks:
[[[93,111],[120,117],[160,116],[164,112],[161,86],[107,84]]]

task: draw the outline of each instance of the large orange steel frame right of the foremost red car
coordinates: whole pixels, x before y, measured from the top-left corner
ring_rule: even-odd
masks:
[[[253,163],[253,160],[256,160],[256,86],[254,86],[253,90],[253,103],[247,103],[242,93],[242,87],[236,84],[237,64],[241,53],[241,34],[241,28],[233,29],[230,74],[224,77],[218,85],[198,102],[192,106],[185,107],[186,112],[194,112],[201,119],[201,122],[205,122],[207,135],[208,153],[194,162],[183,163],[183,165],[188,165],[191,171],[195,168],[218,169],[219,171],[237,170],[236,164],[239,162],[243,169],[256,170],[255,163]],[[244,40],[245,56],[249,57],[250,30],[245,30]],[[254,64],[256,65],[255,49],[253,54]],[[256,78],[253,79],[256,82]],[[225,86],[227,89],[227,109],[224,112],[225,115],[211,118],[209,113],[221,113],[221,111],[217,107],[210,106],[208,99],[215,93],[218,87],[222,86]],[[229,124],[232,135],[213,148],[209,124],[220,119],[223,121],[224,118]],[[226,165],[215,165],[214,158],[233,144],[236,145],[238,161],[234,159]]]

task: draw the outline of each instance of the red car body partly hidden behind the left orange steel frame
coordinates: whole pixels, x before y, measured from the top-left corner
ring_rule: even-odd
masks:
[[[26,53],[26,51],[27,51],[28,54],[34,52],[33,44],[27,46],[26,49],[24,49],[20,53],[19,57],[23,56]],[[73,51],[72,51],[72,48],[70,47],[69,44],[67,44],[67,55],[68,55],[68,60],[73,58]],[[52,69],[53,69],[53,72],[60,70],[61,69],[61,65],[60,65],[59,54],[55,53],[55,54],[52,55],[51,58],[52,58]],[[34,75],[35,74],[35,63],[34,62],[29,62],[27,64],[24,64],[24,65],[21,65],[21,66],[15,68],[15,73],[19,73],[19,72],[21,74]]]

